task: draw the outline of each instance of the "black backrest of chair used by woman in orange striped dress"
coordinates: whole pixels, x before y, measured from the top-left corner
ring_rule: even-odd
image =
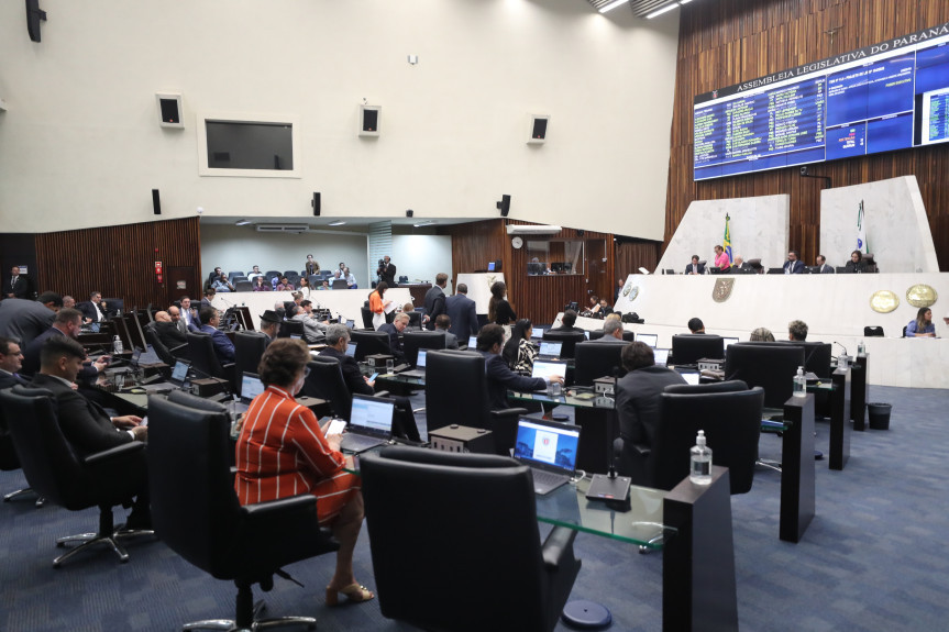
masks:
[[[148,398],[152,522],[162,542],[208,570],[229,551],[240,511],[229,465],[230,415],[194,396],[175,399]]]

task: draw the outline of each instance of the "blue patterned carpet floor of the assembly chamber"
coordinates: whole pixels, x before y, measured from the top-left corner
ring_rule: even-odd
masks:
[[[893,403],[891,430],[854,433],[843,472],[817,463],[817,515],[801,543],[777,539],[780,474],[760,469],[752,490],[732,497],[743,631],[949,630],[949,491],[942,476],[949,470],[941,470],[949,465],[949,391],[871,387],[871,401]],[[424,418],[419,422],[423,428]],[[817,445],[826,452],[827,425],[817,429]],[[781,440],[762,436],[761,455],[780,461]],[[0,492],[23,486],[20,472],[0,473]],[[0,505],[0,631],[173,631],[232,616],[233,585],[205,575],[158,541],[131,543],[128,564],[103,551],[54,569],[55,539],[92,530],[96,522],[95,510],[36,509],[29,500]],[[577,536],[576,552],[583,569],[574,598],[607,605],[613,630],[661,629],[661,554],[640,555],[587,534]],[[324,607],[332,562],[323,556],[289,567],[306,588],[277,579],[264,595],[268,613],[310,614],[321,631],[412,630],[383,618],[377,601]],[[374,586],[365,533],[355,569]],[[407,581],[424,592],[426,578],[409,575]]]

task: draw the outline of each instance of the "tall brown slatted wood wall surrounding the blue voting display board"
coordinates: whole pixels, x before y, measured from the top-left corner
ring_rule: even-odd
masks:
[[[672,119],[665,244],[693,200],[791,196],[791,244],[805,262],[819,254],[823,180],[798,167],[693,182],[695,95],[816,62],[949,21],[936,0],[714,0],[682,9]],[[834,34],[831,29],[839,27]],[[942,271],[949,271],[949,145],[824,163],[834,187],[915,175]],[[885,263],[881,263],[885,268]]]

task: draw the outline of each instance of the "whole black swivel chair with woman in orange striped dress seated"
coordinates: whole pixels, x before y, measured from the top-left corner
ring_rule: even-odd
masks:
[[[152,520],[162,541],[178,555],[217,579],[238,587],[232,622],[189,623],[186,630],[258,630],[308,625],[309,617],[256,620],[253,586],[264,591],[288,564],[339,550],[320,529],[317,501],[309,494],[241,507],[234,492],[229,453],[230,415],[222,407],[178,393],[179,401],[148,398],[148,473]],[[187,494],[183,494],[187,490]],[[230,628],[224,625],[230,624]]]

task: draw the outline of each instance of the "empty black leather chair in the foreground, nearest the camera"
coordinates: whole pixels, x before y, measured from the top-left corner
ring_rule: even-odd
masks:
[[[576,532],[555,526],[541,544],[527,467],[387,447],[361,472],[383,616],[426,630],[554,629],[581,568]]]

